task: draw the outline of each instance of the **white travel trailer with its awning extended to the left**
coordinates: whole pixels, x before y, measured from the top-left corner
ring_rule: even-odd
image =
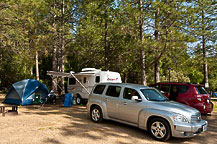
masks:
[[[95,68],[83,68],[79,73],[60,73],[48,71],[48,75],[68,77],[67,91],[72,93],[77,104],[87,102],[92,88],[97,83],[121,83],[118,72],[101,71]]]

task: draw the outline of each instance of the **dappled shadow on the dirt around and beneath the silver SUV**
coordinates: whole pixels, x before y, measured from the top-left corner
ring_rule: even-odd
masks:
[[[20,107],[22,108],[22,107]],[[34,115],[61,115],[63,118],[69,119],[70,122],[59,129],[63,137],[79,137],[91,140],[107,141],[110,138],[117,139],[116,143],[131,144],[140,143],[156,143],[152,140],[147,131],[137,127],[121,124],[114,121],[104,120],[103,123],[94,123],[87,115],[85,106],[73,105],[72,107],[63,107],[63,104],[57,105],[45,104],[43,107],[39,105],[24,106],[26,109],[22,114]],[[21,115],[22,115],[21,114]],[[203,117],[209,123],[208,131],[193,138],[171,138],[167,143],[217,143],[217,111],[213,112],[212,116]],[[124,139],[118,141],[118,139]],[[59,144],[59,140],[47,138],[45,143]]]

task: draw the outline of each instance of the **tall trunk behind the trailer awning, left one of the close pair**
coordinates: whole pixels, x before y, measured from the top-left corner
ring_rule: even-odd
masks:
[[[54,10],[56,9],[56,0],[54,0]],[[54,14],[54,39],[53,39],[53,58],[52,58],[52,70],[57,71],[57,26],[56,26],[56,14]],[[52,90],[57,93],[57,77],[52,77]]]

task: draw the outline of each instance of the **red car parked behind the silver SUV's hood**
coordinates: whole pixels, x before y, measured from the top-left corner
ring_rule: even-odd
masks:
[[[210,100],[210,96],[201,85],[162,82],[151,86],[157,88],[170,100],[196,108],[201,114],[208,114],[213,110],[213,103]]]

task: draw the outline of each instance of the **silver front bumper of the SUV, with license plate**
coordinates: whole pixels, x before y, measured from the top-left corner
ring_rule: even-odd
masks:
[[[179,138],[187,138],[196,136],[207,130],[208,123],[201,120],[199,123],[175,123],[172,129],[172,136]]]

